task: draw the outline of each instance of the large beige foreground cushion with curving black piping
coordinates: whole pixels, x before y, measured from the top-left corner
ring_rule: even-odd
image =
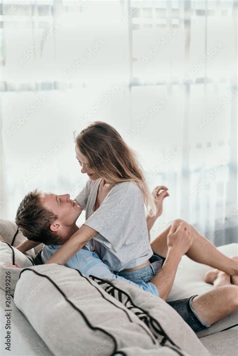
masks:
[[[208,355],[193,331],[162,299],[124,282],[120,287],[156,315],[159,321],[154,321],[153,331],[146,319],[137,316],[137,312],[145,313],[139,306],[134,305],[137,311],[132,311],[131,303],[124,305],[95,281],[57,264],[25,269],[17,283],[14,301],[57,356],[105,356],[124,349],[135,356],[185,355],[187,349],[192,349],[193,355]],[[175,339],[175,332],[178,332],[176,342],[170,338],[172,335]],[[181,345],[187,347],[185,351],[179,349]]]

